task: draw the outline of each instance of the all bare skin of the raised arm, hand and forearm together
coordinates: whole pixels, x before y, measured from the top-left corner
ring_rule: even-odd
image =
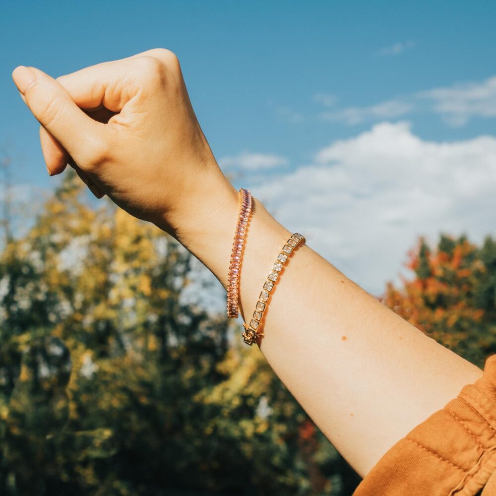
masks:
[[[68,163],[97,197],[107,194],[174,236],[227,289],[239,193],[215,161],[172,52],[154,49],[57,79],[19,66],[12,77],[41,124],[50,174]],[[253,200],[240,277],[245,322],[292,234]],[[362,477],[482,376],[308,245],[294,251],[272,293],[259,349]]]

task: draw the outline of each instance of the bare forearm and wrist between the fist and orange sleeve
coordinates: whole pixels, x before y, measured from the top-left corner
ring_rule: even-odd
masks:
[[[214,190],[201,201],[207,213],[179,239],[227,288],[238,192],[225,178]],[[253,200],[240,276],[245,322],[292,234]],[[295,230],[305,235],[305,226]],[[260,350],[270,366],[362,477],[397,440],[482,376],[308,245],[297,249],[274,287],[264,333]]]

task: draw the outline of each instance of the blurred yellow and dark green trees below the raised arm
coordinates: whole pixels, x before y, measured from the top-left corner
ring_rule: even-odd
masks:
[[[239,327],[184,303],[191,255],[79,185],[0,254],[0,494],[351,494]]]

